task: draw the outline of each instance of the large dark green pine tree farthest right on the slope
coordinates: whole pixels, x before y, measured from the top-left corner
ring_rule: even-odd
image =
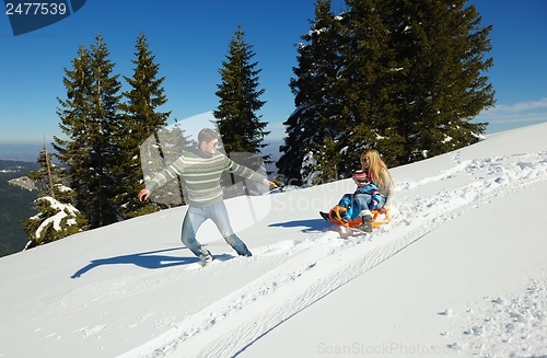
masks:
[[[395,1],[391,34],[405,88],[397,94],[400,164],[468,146],[485,132],[472,120],[494,104],[485,72],[492,67],[481,18],[466,0]]]

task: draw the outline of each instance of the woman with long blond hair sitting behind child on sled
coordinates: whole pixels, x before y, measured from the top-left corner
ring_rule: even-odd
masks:
[[[393,178],[392,174],[387,170],[384,161],[380,159],[380,154],[374,149],[369,149],[361,154],[361,164],[363,172],[366,173],[366,177],[374,183],[382,194],[382,199],[377,204],[376,208],[381,213],[389,210],[392,206],[393,198]],[[354,200],[359,205],[359,216],[363,221],[359,227],[359,230],[365,232],[372,232],[372,213],[370,206],[372,203],[372,196],[370,194],[357,194]]]

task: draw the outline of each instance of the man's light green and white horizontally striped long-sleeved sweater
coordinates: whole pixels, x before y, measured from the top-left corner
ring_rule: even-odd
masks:
[[[209,154],[198,149],[181,155],[158,173],[147,184],[147,189],[152,192],[181,175],[186,186],[188,204],[195,207],[206,207],[222,201],[220,177],[224,171],[256,182],[264,180],[260,174],[237,164],[218,151]]]

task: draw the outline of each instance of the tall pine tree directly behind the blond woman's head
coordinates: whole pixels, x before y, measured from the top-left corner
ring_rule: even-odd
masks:
[[[359,169],[361,153],[374,148],[393,165],[394,152],[400,152],[401,136],[395,130],[397,106],[394,97],[404,83],[394,80],[395,61],[389,28],[392,1],[348,0],[345,14],[342,70],[336,83],[341,101],[344,129],[340,170],[345,176]]]

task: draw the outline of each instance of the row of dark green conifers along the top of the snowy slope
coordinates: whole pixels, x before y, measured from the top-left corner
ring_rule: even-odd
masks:
[[[487,76],[492,26],[481,24],[473,4],[345,4],[335,13],[330,0],[316,0],[310,31],[298,44],[287,79],[294,109],[275,163],[280,184],[349,177],[366,149],[376,149],[389,168],[408,164],[469,146],[486,131],[488,124],[474,119],[494,105]],[[246,152],[274,164],[263,152],[269,132],[259,115],[268,89],[260,86],[260,63],[244,24],[235,25],[226,56],[219,58],[214,125],[228,154]],[[132,73],[116,72],[101,33],[92,45],[74,48],[59,79],[66,92],[56,94],[62,136],[53,138],[53,152],[45,143],[40,169],[28,175],[39,190],[39,213],[24,222],[28,247],[170,207],[137,198],[144,185],[140,146],[172,118],[162,59],[144,33],[136,35],[127,57]],[[187,135],[184,128],[170,134],[174,142]]]

